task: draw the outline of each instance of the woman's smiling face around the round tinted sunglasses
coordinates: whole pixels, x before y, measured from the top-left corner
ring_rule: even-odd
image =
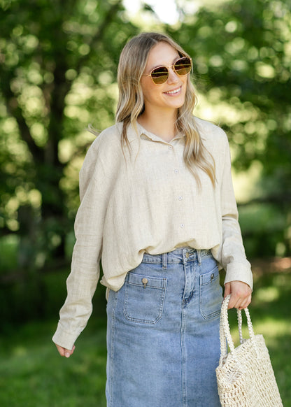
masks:
[[[150,108],[177,110],[183,106],[187,87],[187,75],[178,76],[172,68],[168,68],[169,78],[162,85],[155,85],[150,76],[145,76],[157,66],[172,66],[179,58],[178,51],[165,42],[157,43],[150,50],[144,76],[141,78],[145,110]]]

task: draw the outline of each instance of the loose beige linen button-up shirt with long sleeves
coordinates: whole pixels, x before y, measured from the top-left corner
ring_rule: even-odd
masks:
[[[196,118],[204,145],[215,160],[216,185],[199,171],[201,191],[183,159],[185,136],[169,143],[138,124],[129,127],[130,149],[122,153],[122,123],[101,132],[80,171],[80,208],[68,295],[52,340],[71,349],[92,313],[99,280],[122,287],[129,270],[152,255],[190,246],[211,249],[225,283],[253,285],[232,187],[227,136],[220,127]]]

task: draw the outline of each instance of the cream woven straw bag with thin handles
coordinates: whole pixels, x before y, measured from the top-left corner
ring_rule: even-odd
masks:
[[[283,407],[267,346],[262,335],[254,334],[248,308],[250,338],[243,339],[241,310],[237,310],[241,345],[234,348],[227,315],[229,298],[223,301],[220,315],[220,361],[216,368],[220,403],[222,407]]]

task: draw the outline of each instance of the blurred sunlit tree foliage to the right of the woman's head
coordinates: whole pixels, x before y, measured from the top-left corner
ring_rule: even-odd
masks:
[[[252,254],[275,254],[279,241],[290,255],[290,7],[281,0],[234,0],[180,13],[180,27],[167,31],[194,58],[199,93],[229,134],[234,167],[260,168],[253,201],[275,208],[267,210]]]

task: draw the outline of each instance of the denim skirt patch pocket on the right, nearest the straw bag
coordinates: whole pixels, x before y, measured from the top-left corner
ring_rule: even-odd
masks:
[[[200,276],[200,313],[204,319],[218,317],[222,304],[218,266]]]

